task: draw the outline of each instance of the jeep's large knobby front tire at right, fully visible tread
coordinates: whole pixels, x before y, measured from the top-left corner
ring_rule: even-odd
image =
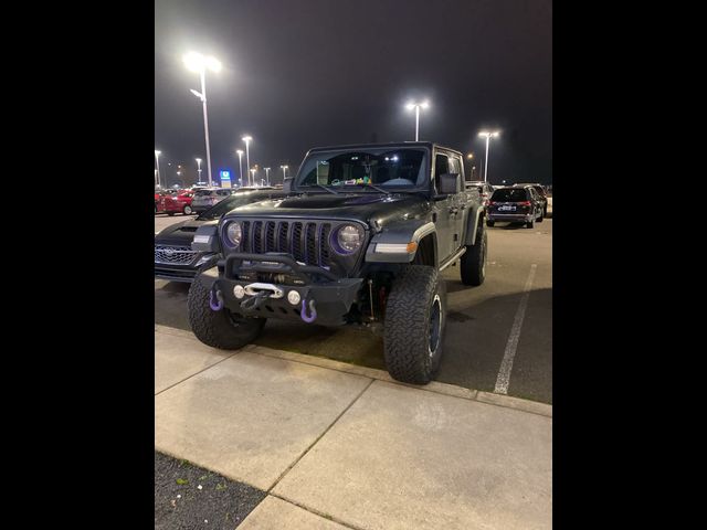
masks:
[[[386,367],[403,383],[426,384],[442,358],[446,288],[436,268],[410,265],[393,280],[386,301]]]

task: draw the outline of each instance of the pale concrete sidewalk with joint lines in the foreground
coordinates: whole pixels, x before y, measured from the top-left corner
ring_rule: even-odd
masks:
[[[551,528],[552,407],[155,330],[155,446],[268,492],[239,528]]]

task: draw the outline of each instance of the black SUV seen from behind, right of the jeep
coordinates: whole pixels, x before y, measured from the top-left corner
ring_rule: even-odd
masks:
[[[493,226],[496,221],[520,221],[527,229],[532,229],[536,221],[542,222],[542,204],[531,186],[498,188],[488,201],[486,225]]]

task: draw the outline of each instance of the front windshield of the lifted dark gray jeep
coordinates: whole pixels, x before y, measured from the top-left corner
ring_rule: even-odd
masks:
[[[426,184],[426,160],[424,149],[412,148],[316,152],[303,165],[296,187],[419,187]]]

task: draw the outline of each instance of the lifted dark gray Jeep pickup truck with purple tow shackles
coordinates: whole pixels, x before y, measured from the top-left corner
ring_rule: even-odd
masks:
[[[466,190],[461,152],[431,142],[312,149],[289,195],[241,206],[199,229],[220,252],[189,292],[202,342],[238,349],[268,318],[381,330],[388,371],[424,384],[442,357],[446,289],[484,282],[485,210]]]

